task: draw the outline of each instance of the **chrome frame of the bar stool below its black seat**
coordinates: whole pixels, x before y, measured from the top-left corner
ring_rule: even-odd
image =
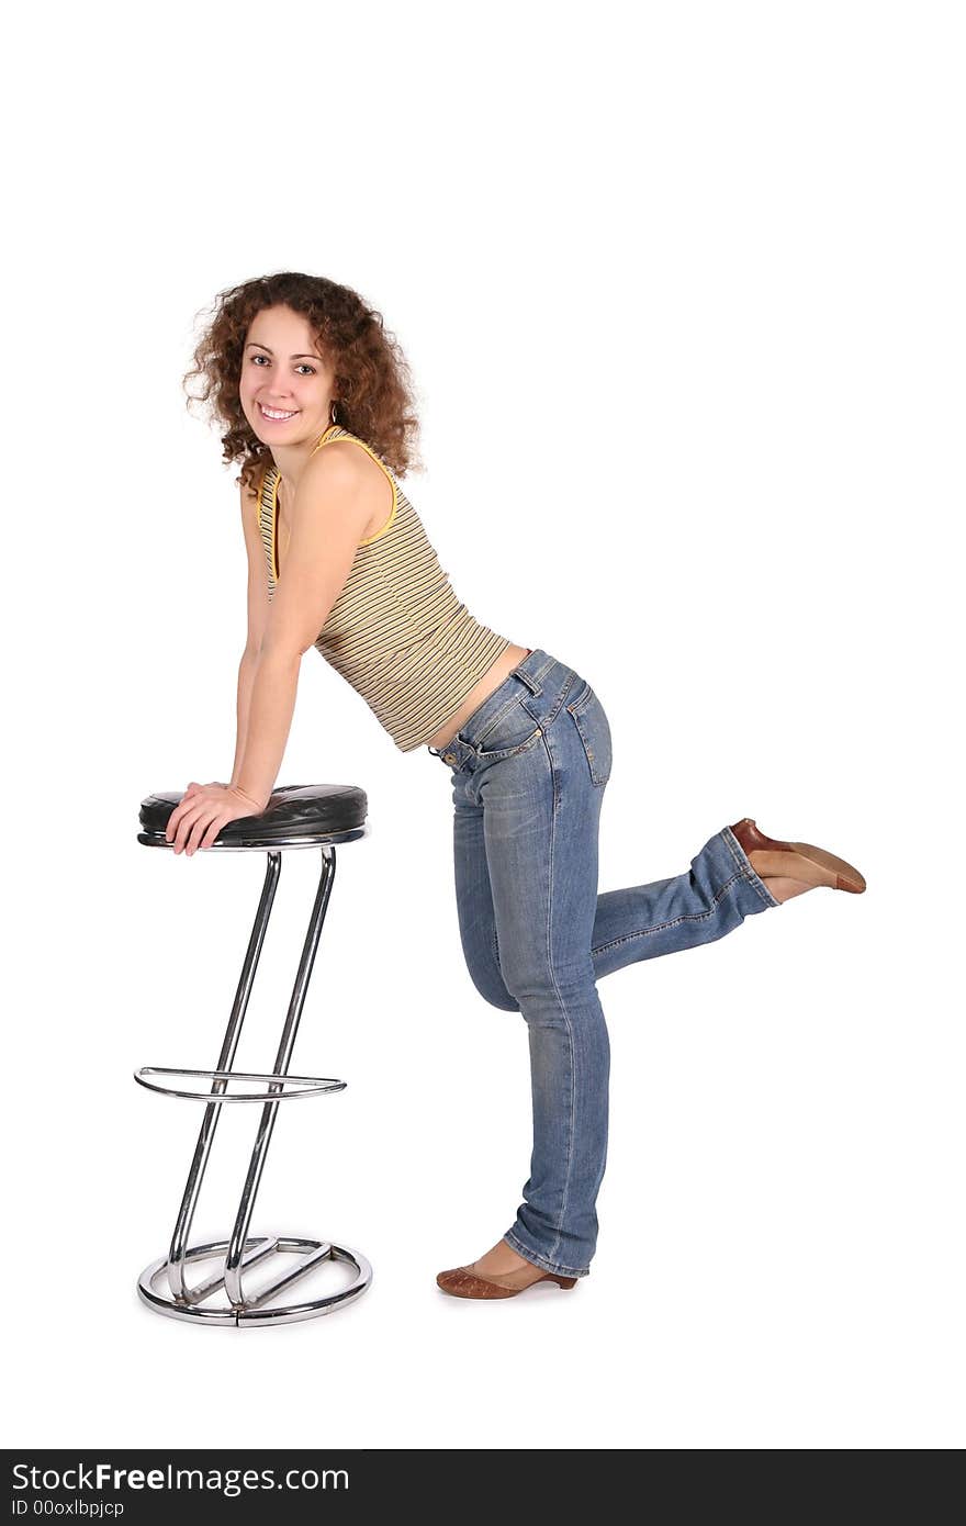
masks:
[[[354,836],[365,835],[365,832],[366,829],[362,827],[351,833],[343,833],[342,841],[351,841]],[[291,1235],[259,1236],[249,1233],[255,1198],[261,1183],[279,1103],[299,1096],[320,1096],[324,1093],[345,1090],[345,1082],[333,1080],[331,1077],[319,1079],[288,1074],[291,1050],[295,1047],[305,993],[308,990],[308,981],[311,978],[319,948],[322,923],[325,922],[325,913],[328,909],[328,900],[336,877],[336,848],[333,839],[337,839],[337,835],[328,833],[327,836],[328,841],[322,842],[322,873],[319,877],[319,887],[311,917],[308,920],[302,955],[272,1073],[252,1074],[247,1071],[232,1071],[232,1061],[238,1047],[241,1025],[247,1012],[249,996],[252,993],[252,984],[258,969],[275,893],[278,890],[281,874],[281,845],[311,845],[311,841],[305,838],[267,848],[266,879],[217,1068],[214,1071],[189,1071],[163,1067],[142,1067],[134,1073],[134,1079],[153,1091],[160,1091],[166,1096],[175,1097],[191,1097],[206,1103],[168,1256],[162,1256],[159,1260],[151,1262],[137,1279],[137,1293],[140,1299],[148,1305],[148,1308],[159,1314],[212,1325],[284,1325],[296,1320],[314,1318],[322,1314],[331,1314],[334,1309],[343,1308],[346,1303],[353,1303],[356,1299],[362,1297],[372,1282],[372,1268],[366,1257],[362,1256],[360,1251],[349,1250],[345,1245]],[[156,842],[156,845],[160,845],[156,835],[142,835],[140,841],[148,841],[148,838]],[[314,842],[319,842],[319,836],[314,838]],[[215,852],[218,845],[220,844],[215,844],[215,847],[209,852]],[[252,847],[253,845],[255,844],[252,844]],[[211,1090],[208,1093],[180,1090],[183,1082],[174,1085],[174,1082],[156,1079],[175,1076],[192,1076],[209,1080]],[[229,1087],[233,1082],[241,1080],[261,1082],[264,1090],[256,1093],[246,1091],[232,1094]],[[191,1235],[191,1225],[221,1108],[226,1103],[249,1102],[262,1103],[262,1112],[232,1235],[227,1241],[212,1241],[206,1245],[195,1245],[194,1248],[189,1248],[188,1239]],[[246,1296],[243,1288],[243,1274],[255,1265],[266,1262],[275,1253],[296,1253],[299,1256],[299,1262],[282,1271],[273,1282],[262,1286],[258,1293]],[[186,1268],[208,1259],[218,1259],[221,1262],[220,1270],[214,1270],[208,1277],[203,1277],[194,1286],[189,1286]],[[272,1300],[276,1299],[285,1288],[290,1288],[295,1282],[314,1271],[314,1268],[325,1260],[346,1262],[354,1268],[356,1276],[346,1286],[339,1288],[325,1297],[307,1299],[296,1303],[287,1303],[284,1306],[270,1306]],[[162,1283],[166,1283],[166,1293],[162,1291]],[[229,1306],[204,1308],[203,1305],[206,1300],[214,1297],[221,1289],[227,1297]]]

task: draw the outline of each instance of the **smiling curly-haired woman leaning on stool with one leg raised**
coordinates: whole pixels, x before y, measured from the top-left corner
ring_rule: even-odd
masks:
[[[450,769],[462,948],[481,995],[526,1022],[534,1138],[510,1228],[436,1282],[464,1299],[572,1288],[595,1251],[607,1154],[600,977],[711,943],[813,887],[865,882],[743,818],[688,871],[598,894],[607,716],[575,668],[458,601],[400,487],[417,420],[382,316],[324,278],[250,281],[221,293],[189,375],[241,462],[249,633],[232,780],[191,783],[168,839],[191,856],[267,807],[313,645],[400,751],[427,746]]]

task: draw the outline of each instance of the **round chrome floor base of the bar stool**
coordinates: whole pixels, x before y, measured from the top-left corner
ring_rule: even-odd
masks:
[[[172,1299],[169,1294],[157,1291],[156,1283],[168,1273],[168,1257],[162,1256],[145,1267],[137,1279],[140,1299],[154,1309],[172,1320],[191,1320],[195,1325],[293,1325],[296,1320],[313,1320],[322,1314],[333,1314],[360,1299],[372,1282],[372,1268],[366,1257],[346,1245],[333,1245],[331,1241],[302,1239],[298,1235],[252,1235],[244,1242],[241,1267],[247,1271],[258,1262],[266,1260],[276,1251],[281,1254],[301,1254],[299,1265],[285,1270],[275,1282],[261,1288],[253,1297],[246,1299],[241,1308],[215,1306],[201,1308],[201,1303],[215,1293],[224,1291],[224,1257],[230,1241],[211,1241],[208,1245],[195,1245],[185,1251],[185,1264],[221,1257],[221,1270],[206,1277],[189,1289],[186,1299]],[[281,1308],[267,1308],[270,1299],[276,1297],[282,1288],[288,1288],[299,1277],[314,1271],[324,1260],[345,1260],[356,1268],[356,1277],[346,1288],[339,1288],[322,1299],[305,1300],[304,1303],[285,1303]]]

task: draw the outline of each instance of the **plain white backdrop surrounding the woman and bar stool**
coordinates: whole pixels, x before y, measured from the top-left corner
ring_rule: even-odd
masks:
[[[963,1444],[957,629],[963,38],[954,5],[20,12],[8,275],[8,1445]],[[572,1294],[446,1297],[511,1224],[523,1021],[462,963],[449,771],[314,652],[279,783],[353,783],[253,1228],[374,1265],[328,1318],[159,1318],[259,855],[151,853],[226,778],[235,470],[185,406],[217,291],[299,269],[385,316],[404,479],[484,623],[589,678],[600,888],[725,823],[827,890],[601,983],[610,1152]],[[314,893],[284,861],[237,1056],[270,1068]],[[194,1241],[227,1235],[226,1109]]]

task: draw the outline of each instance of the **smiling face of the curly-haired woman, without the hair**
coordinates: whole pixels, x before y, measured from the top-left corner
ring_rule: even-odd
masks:
[[[266,307],[249,324],[241,360],[244,417],[266,446],[298,446],[331,424],[334,368],[302,313]]]

